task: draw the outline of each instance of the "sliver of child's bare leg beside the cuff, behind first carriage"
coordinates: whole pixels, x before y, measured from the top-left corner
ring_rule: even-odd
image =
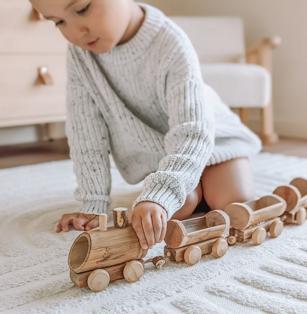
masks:
[[[200,203],[203,197],[203,191],[201,182],[199,181],[198,186],[190,194],[187,195],[186,202],[183,206],[173,214],[171,219],[184,220],[191,216],[196,206]]]

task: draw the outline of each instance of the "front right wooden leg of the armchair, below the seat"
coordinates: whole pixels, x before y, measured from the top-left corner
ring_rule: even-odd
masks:
[[[263,145],[271,145],[279,141],[278,134],[274,132],[274,116],[273,116],[273,103],[264,108],[261,108],[262,114],[262,134],[260,138]]]

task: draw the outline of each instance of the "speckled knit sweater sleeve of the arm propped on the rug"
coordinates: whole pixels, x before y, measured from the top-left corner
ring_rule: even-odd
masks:
[[[70,52],[68,51],[68,54]],[[106,122],[67,58],[66,135],[78,186],[74,196],[85,214],[108,212],[111,189],[109,134]]]

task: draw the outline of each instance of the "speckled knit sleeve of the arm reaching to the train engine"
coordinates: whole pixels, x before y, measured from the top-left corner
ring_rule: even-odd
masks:
[[[197,187],[214,147],[213,105],[206,97],[198,57],[187,39],[179,46],[176,56],[168,58],[172,61],[165,75],[166,156],[158,170],[145,178],[133,204],[134,208],[143,201],[158,203],[168,220]]]

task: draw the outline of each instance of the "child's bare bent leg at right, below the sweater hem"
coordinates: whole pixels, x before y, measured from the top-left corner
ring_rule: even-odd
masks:
[[[204,198],[211,210],[224,210],[231,203],[255,198],[254,178],[248,158],[235,158],[206,167],[200,179]]]

